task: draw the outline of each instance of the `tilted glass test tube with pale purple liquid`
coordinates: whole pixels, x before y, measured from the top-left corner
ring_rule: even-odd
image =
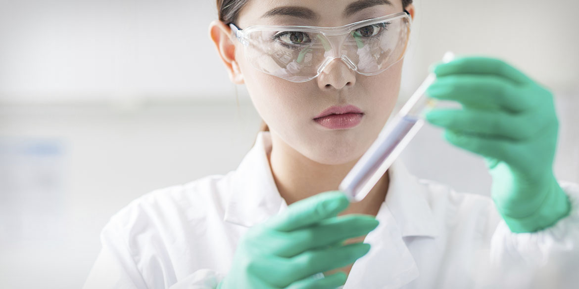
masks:
[[[442,57],[442,62],[450,62],[454,58],[455,55],[448,51]],[[424,114],[436,104],[434,99],[429,99],[424,95],[434,80],[436,80],[436,75],[430,73],[402,106],[400,112],[386,122],[378,138],[342,180],[338,190],[346,192],[350,202],[360,202],[368,195],[368,192],[422,127]]]

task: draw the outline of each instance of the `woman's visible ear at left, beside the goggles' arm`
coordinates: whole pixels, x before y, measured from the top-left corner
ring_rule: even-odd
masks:
[[[229,79],[235,84],[243,84],[243,74],[235,58],[235,45],[231,39],[231,33],[231,28],[222,21],[214,20],[209,24],[209,36],[215,44],[219,57],[225,64]]]

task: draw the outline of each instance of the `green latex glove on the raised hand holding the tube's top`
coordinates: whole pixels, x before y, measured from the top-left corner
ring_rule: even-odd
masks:
[[[558,120],[551,92],[493,58],[457,58],[430,70],[437,80],[427,94],[462,109],[434,109],[426,119],[446,128],[448,142],[485,157],[493,201],[511,231],[534,232],[567,216],[570,203],[552,169]]]

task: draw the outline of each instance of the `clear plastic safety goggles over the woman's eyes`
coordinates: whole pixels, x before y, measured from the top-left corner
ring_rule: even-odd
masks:
[[[361,75],[377,75],[404,57],[411,28],[408,12],[340,27],[229,23],[245,58],[259,71],[294,82],[316,78],[340,58]]]

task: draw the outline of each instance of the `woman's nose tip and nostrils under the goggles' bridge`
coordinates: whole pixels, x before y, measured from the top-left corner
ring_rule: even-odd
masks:
[[[324,67],[317,80],[318,86],[323,90],[340,90],[346,86],[354,86],[356,71],[350,69],[342,58],[334,58]]]

